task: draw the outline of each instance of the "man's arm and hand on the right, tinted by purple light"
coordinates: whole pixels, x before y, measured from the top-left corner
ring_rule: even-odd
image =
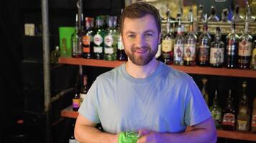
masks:
[[[206,119],[204,122],[196,124],[193,126],[193,129],[188,132],[183,133],[158,133],[149,130],[142,129],[140,130],[139,134],[142,135],[138,139],[137,143],[144,143],[144,142],[209,142],[214,143],[216,142],[216,127],[214,125],[213,119],[211,117]]]

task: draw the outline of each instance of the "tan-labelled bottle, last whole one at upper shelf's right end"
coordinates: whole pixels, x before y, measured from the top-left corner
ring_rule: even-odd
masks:
[[[247,19],[244,26],[244,34],[239,37],[239,47],[238,47],[238,67],[240,69],[249,69],[250,60],[252,56],[252,36],[248,34],[249,21]]]

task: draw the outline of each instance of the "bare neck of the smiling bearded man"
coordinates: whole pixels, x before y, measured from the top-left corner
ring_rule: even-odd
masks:
[[[152,59],[148,64],[138,66],[133,64],[132,61],[128,59],[127,63],[125,64],[125,69],[130,76],[136,79],[144,79],[157,69],[158,64],[159,61]]]

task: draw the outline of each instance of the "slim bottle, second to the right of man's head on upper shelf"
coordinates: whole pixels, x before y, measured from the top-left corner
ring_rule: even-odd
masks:
[[[183,65],[183,54],[184,54],[184,36],[182,32],[181,22],[179,19],[177,35],[175,38],[174,50],[173,50],[173,64]]]

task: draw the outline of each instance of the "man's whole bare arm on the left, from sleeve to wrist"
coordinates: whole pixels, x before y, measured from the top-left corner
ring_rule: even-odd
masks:
[[[83,117],[81,114],[76,119],[75,138],[78,142],[117,142],[118,134],[109,134],[96,129],[96,124]]]

